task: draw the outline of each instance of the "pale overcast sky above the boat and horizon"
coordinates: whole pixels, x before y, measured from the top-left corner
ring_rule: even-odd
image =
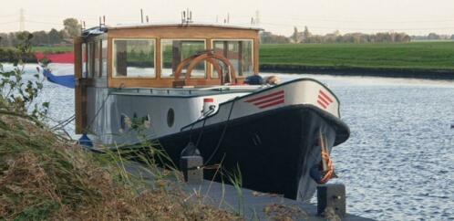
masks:
[[[107,25],[138,23],[139,9],[152,22],[177,22],[189,7],[195,22],[250,25],[259,12],[265,30],[289,36],[294,26],[308,26],[315,34],[379,31],[427,35],[454,34],[454,0],[0,0],[0,32],[19,29],[19,11],[25,11],[27,30],[62,28],[62,20],[76,17],[96,26],[98,16]]]

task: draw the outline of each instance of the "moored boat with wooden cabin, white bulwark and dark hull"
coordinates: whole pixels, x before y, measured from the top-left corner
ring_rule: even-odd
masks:
[[[84,30],[74,41],[76,132],[119,148],[158,141],[177,166],[192,145],[205,179],[225,181],[208,169],[218,165],[239,174],[242,187],[309,200],[317,185],[311,170],[349,129],[335,93],[316,79],[248,84],[259,75],[260,30],[199,23]]]

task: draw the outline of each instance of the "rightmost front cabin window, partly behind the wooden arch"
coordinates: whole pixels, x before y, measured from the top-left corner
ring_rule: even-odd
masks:
[[[232,62],[238,77],[253,75],[253,40],[213,40],[212,46]],[[212,78],[219,78],[218,75],[212,71]]]

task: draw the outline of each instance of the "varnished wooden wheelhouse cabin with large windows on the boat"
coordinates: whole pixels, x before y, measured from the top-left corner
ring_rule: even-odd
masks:
[[[222,69],[227,66],[234,73],[230,82],[241,84],[259,71],[259,31],[202,24],[101,26],[84,31],[74,42],[77,133],[88,124],[89,88],[210,87],[223,84]],[[206,58],[192,67],[181,65],[203,51],[222,55],[230,64]]]

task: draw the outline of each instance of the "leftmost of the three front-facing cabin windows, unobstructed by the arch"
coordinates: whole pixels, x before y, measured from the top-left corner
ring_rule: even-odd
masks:
[[[154,39],[114,39],[113,76],[155,78]]]

